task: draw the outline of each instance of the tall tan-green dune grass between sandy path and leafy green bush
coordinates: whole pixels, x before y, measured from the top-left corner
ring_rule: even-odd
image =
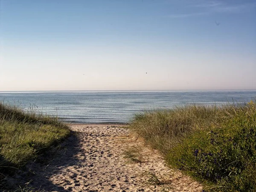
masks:
[[[154,148],[166,154],[191,131],[217,122],[219,113],[223,111],[216,106],[199,105],[176,107],[173,110],[145,111],[135,114],[130,128]]]

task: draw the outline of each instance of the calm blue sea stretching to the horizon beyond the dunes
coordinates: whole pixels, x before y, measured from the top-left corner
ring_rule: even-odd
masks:
[[[144,110],[247,103],[255,99],[256,90],[0,92],[0,102],[24,110],[33,108],[69,123],[127,123]]]

